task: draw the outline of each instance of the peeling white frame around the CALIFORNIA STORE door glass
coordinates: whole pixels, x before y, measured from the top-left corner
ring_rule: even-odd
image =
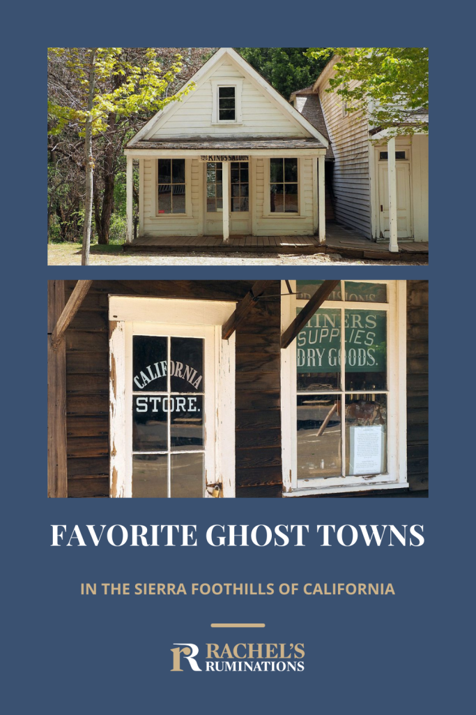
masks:
[[[222,340],[236,302],[109,297],[110,496],[132,497],[132,337],[173,335],[208,338],[204,360],[206,463],[204,498],[220,483],[235,497],[235,334]],[[195,450],[191,450],[195,451]],[[207,488],[208,485],[208,488]]]

